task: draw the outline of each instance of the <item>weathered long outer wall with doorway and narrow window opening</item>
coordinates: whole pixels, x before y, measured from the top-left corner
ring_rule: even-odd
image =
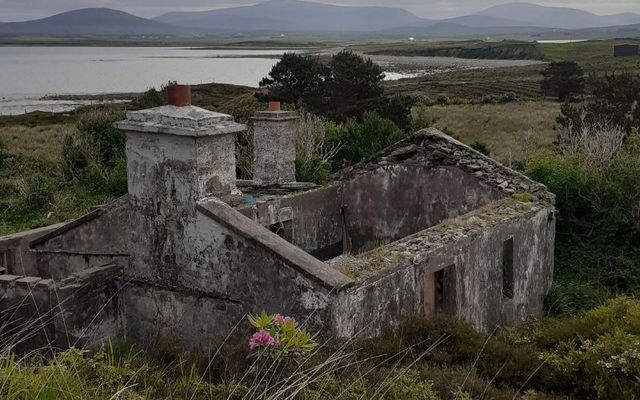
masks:
[[[497,223],[481,223],[471,213],[459,218],[459,227],[434,227],[390,245],[376,256],[381,271],[340,293],[335,333],[377,335],[387,324],[425,315],[427,276],[443,269],[452,275],[444,290],[455,298],[447,311],[480,331],[541,315],[553,278],[553,213],[552,207],[540,207]],[[508,299],[501,295],[502,257],[511,238],[514,293]]]

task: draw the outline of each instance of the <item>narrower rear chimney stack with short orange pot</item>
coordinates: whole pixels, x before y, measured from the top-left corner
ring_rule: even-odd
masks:
[[[295,132],[298,116],[281,111],[280,102],[270,102],[269,111],[252,118],[253,180],[265,185],[296,181]]]

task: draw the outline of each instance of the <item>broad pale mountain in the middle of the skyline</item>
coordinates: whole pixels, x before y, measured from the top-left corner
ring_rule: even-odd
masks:
[[[205,12],[172,12],[156,21],[215,32],[376,32],[430,24],[400,8],[346,7],[297,0]]]

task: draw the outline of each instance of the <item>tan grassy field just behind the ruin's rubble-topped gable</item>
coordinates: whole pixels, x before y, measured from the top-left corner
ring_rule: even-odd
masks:
[[[433,127],[467,144],[486,144],[491,156],[507,165],[551,149],[559,114],[560,104],[548,101],[434,106],[426,111],[435,120]]]

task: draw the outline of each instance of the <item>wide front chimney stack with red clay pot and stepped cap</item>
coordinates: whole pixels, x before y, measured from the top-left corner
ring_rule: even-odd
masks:
[[[195,209],[206,196],[236,189],[233,118],[191,105],[191,87],[168,88],[170,105],[127,114],[116,127],[127,134],[129,198],[141,207]]]

